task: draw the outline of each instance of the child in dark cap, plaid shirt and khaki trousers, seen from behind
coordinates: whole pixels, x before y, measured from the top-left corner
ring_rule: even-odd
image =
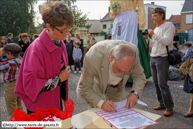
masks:
[[[23,110],[21,99],[14,93],[19,67],[22,62],[20,52],[22,48],[16,43],[9,43],[0,48],[0,56],[5,52],[8,60],[0,63],[0,72],[3,72],[4,96],[7,111],[13,117],[14,108]]]

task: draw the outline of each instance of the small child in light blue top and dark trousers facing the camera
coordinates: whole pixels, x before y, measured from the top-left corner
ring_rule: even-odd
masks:
[[[81,64],[80,64],[80,60],[82,58],[82,51],[79,48],[80,45],[78,43],[75,43],[75,47],[73,49],[73,59],[74,59],[74,73],[76,73],[76,68],[78,67],[79,73],[81,73]]]

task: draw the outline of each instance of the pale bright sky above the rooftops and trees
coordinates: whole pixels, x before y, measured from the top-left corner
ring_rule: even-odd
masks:
[[[35,25],[42,23],[41,15],[39,13],[38,6],[43,4],[46,0],[38,0],[35,5],[36,18]],[[155,2],[155,5],[166,6],[166,19],[170,16],[180,15],[185,0],[144,0],[144,4]],[[77,0],[75,5],[77,8],[87,14],[89,19],[102,19],[108,13],[108,7],[110,6],[109,0]]]

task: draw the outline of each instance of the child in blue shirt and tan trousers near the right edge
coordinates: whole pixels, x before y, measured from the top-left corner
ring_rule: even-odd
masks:
[[[192,49],[190,48],[192,45],[191,43],[185,43],[183,44],[183,46],[186,49],[186,52],[185,55],[182,57],[183,64],[180,66],[180,70],[184,75],[186,75],[187,72],[189,72],[189,68],[192,64]]]

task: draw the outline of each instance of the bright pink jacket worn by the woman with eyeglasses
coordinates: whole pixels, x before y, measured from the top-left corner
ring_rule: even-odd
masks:
[[[57,47],[47,34],[46,29],[26,50],[15,93],[23,100],[28,110],[35,112],[37,107],[47,109],[51,106],[57,109],[61,108],[60,86],[40,94],[48,79],[59,75],[61,55],[67,67],[66,46],[61,42],[61,48]],[[68,80],[66,81],[66,98],[68,99]]]

